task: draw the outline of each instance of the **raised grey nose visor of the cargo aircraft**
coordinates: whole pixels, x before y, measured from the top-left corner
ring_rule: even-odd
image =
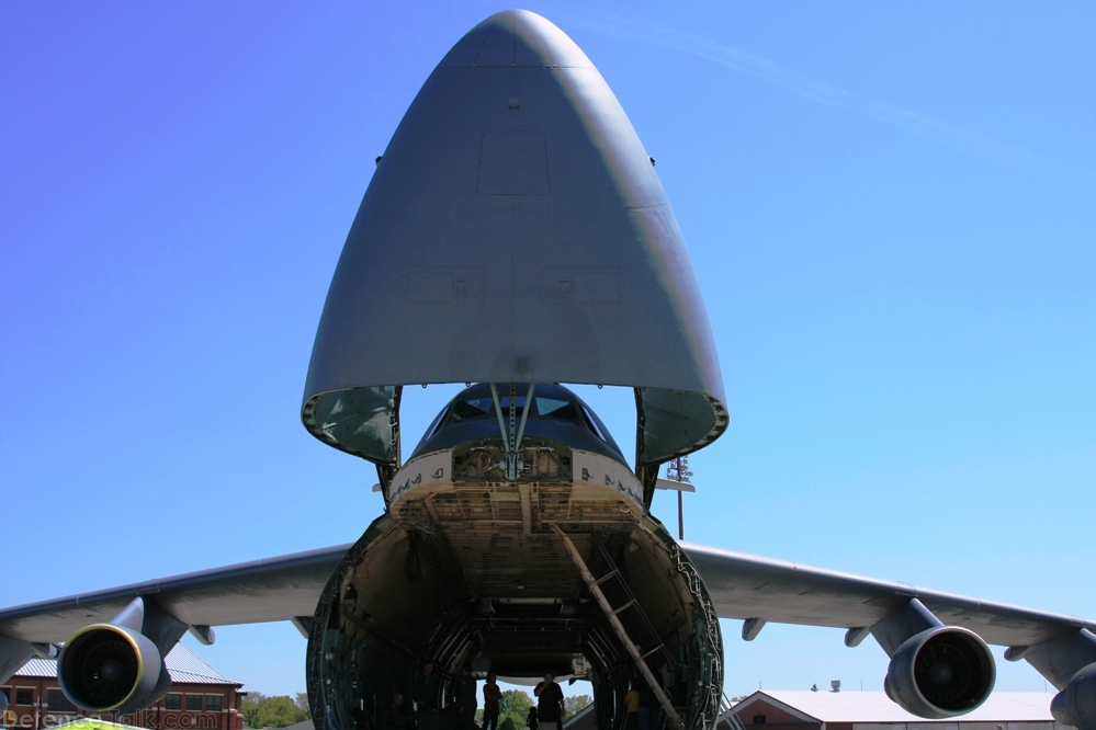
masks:
[[[303,419],[395,465],[397,386],[476,381],[640,389],[641,465],[727,425],[649,158],[586,55],[520,10],[453,46],[399,123],[331,282]]]

